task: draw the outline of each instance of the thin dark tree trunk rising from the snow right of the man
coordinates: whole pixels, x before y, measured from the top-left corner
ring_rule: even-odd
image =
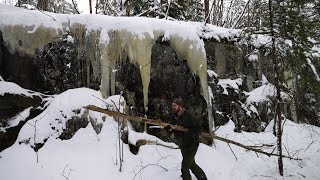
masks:
[[[283,161],[282,161],[282,128],[281,128],[281,94],[280,94],[280,81],[279,81],[279,72],[278,72],[278,63],[275,56],[276,46],[275,46],[275,32],[274,32],[274,23],[273,23],[273,12],[272,12],[272,1],[269,0],[269,15],[270,15],[270,30],[272,37],[272,61],[274,68],[274,80],[277,91],[277,102],[276,102],[276,117],[275,122],[277,122],[277,149],[278,149],[278,166],[279,174],[283,176]]]

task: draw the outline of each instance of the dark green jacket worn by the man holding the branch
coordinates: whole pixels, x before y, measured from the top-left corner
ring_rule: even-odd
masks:
[[[176,115],[175,122],[176,125],[189,129],[188,132],[174,131],[177,145],[180,148],[199,146],[201,122],[188,110],[185,110],[181,116]]]

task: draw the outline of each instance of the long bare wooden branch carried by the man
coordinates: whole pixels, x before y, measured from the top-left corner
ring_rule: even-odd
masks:
[[[121,118],[127,119],[129,121],[135,121],[135,122],[152,124],[152,125],[156,125],[156,126],[164,126],[164,127],[170,125],[172,130],[183,131],[183,132],[187,132],[188,131],[187,128],[184,128],[182,126],[171,125],[169,123],[162,122],[160,119],[156,120],[156,119],[149,119],[149,118],[139,117],[139,116],[130,116],[130,115],[127,115],[127,114],[123,114],[121,112],[110,111],[110,110],[103,109],[103,108],[100,108],[100,107],[97,107],[97,106],[93,106],[93,105],[85,106],[84,108],[88,109],[88,110],[91,110],[91,111],[97,111],[97,112],[101,112],[101,113],[104,113],[104,114],[108,114],[110,116],[121,117]],[[219,141],[223,141],[223,142],[228,143],[228,144],[233,144],[233,145],[242,147],[244,149],[247,149],[249,151],[254,151],[254,152],[257,152],[257,153],[265,154],[267,156],[279,156],[278,154],[274,154],[272,152],[271,153],[265,152],[265,151],[262,151],[261,149],[257,149],[257,148],[250,147],[250,146],[246,146],[244,144],[238,143],[238,142],[230,140],[230,139],[222,138],[222,137],[217,136],[217,135],[213,135],[213,134],[202,132],[200,134],[200,136],[206,137],[206,138],[210,138],[210,139],[217,139]],[[290,156],[283,156],[283,157],[289,158],[289,159],[293,159],[293,160],[302,160],[302,159],[293,158],[293,157],[290,157]]]

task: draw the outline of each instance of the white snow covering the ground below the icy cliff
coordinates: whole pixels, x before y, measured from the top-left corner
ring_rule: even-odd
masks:
[[[4,91],[3,83],[0,89]],[[21,87],[14,86],[20,91],[11,89],[10,92],[23,93]],[[118,105],[120,96],[105,99]],[[176,180],[180,178],[181,155],[178,149],[170,149],[158,145],[144,145],[139,153],[133,155],[128,145],[124,144],[124,162],[119,171],[117,151],[117,123],[111,117],[104,121],[102,114],[90,112],[89,115],[103,123],[99,134],[91,123],[82,128],[69,140],[60,140],[58,135],[65,128],[66,119],[74,115],[73,110],[94,104],[104,106],[101,94],[87,88],[71,89],[48,100],[48,107],[39,116],[30,119],[18,136],[17,142],[0,153],[1,180],[128,180],[153,179]],[[120,100],[121,104],[123,100]],[[84,109],[81,109],[81,112]],[[63,116],[61,116],[63,114]],[[81,113],[80,113],[81,114]],[[59,119],[59,120],[55,120]],[[37,132],[35,125],[37,121]],[[60,123],[56,123],[60,122]],[[55,124],[56,123],[56,124]],[[229,122],[220,127],[216,135],[238,141],[246,145],[275,145],[276,138],[272,134],[272,122],[262,133],[235,133],[234,124]],[[55,130],[49,127],[54,126]],[[144,139],[156,140],[156,137],[146,133],[129,132],[131,141]],[[278,175],[277,158],[245,151],[242,148],[230,147],[218,140],[215,145],[200,144],[196,161],[206,172],[208,179],[219,180],[268,180],[268,179],[314,179],[320,177],[320,128],[295,124],[285,121],[283,132],[283,153],[302,160],[284,159],[284,177]],[[30,147],[33,138],[37,143],[48,138],[45,145],[37,154]],[[29,139],[29,144],[19,143]],[[161,140],[159,140],[161,142]],[[174,146],[173,144],[170,144]],[[275,146],[265,147],[264,151],[271,152]],[[274,151],[276,152],[276,150]],[[193,176],[193,179],[196,179]]]

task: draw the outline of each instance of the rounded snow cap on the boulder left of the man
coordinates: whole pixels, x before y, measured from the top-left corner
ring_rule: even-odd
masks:
[[[48,107],[41,114],[28,120],[21,128],[17,141],[29,142],[33,146],[36,143],[44,143],[51,136],[59,137],[71,117],[83,114],[84,106],[106,107],[106,103],[100,99],[100,92],[87,88],[70,89],[56,95],[47,102]],[[78,110],[80,112],[77,113]],[[101,114],[90,112],[90,116],[99,117]]]

